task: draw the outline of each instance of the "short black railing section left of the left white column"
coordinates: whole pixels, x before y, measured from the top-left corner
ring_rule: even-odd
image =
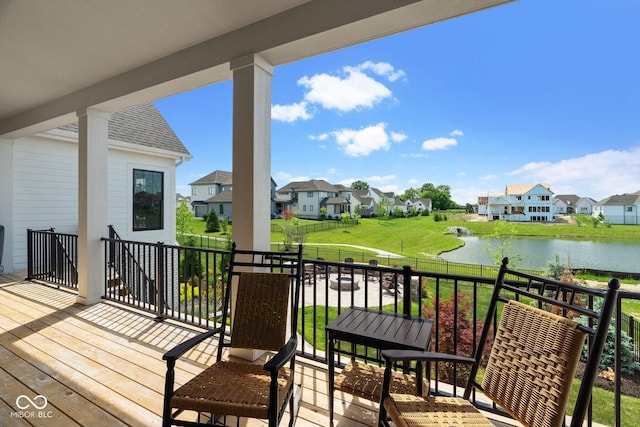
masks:
[[[55,229],[27,230],[27,279],[78,287],[78,236]]]

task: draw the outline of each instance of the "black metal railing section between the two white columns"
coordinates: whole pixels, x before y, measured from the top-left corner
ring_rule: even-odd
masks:
[[[227,250],[123,240],[105,242],[105,298],[205,328],[217,325]]]

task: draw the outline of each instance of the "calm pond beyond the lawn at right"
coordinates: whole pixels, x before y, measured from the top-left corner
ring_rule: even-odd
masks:
[[[495,240],[478,236],[461,236],[465,245],[451,252],[440,254],[442,259],[469,264],[493,265],[491,256],[497,248]],[[493,243],[493,246],[492,246]],[[522,257],[517,261],[521,268],[545,269],[556,254],[560,262],[574,269],[589,268],[605,271],[640,273],[640,242],[609,242],[562,239],[510,239],[509,254]],[[487,249],[485,248],[489,248]]]

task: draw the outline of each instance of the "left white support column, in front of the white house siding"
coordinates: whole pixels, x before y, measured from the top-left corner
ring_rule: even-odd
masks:
[[[109,114],[78,111],[78,297],[95,304],[104,294],[107,235]]]

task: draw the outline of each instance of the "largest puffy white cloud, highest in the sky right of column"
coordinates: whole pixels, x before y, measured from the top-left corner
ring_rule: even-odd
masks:
[[[346,112],[371,108],[391,96],[391,91],[385,85],[360,69],[344,67],[343,70],[344,77],[326,73],[302,77],[298,84],[307,89],[304,99],[326,109]]]

